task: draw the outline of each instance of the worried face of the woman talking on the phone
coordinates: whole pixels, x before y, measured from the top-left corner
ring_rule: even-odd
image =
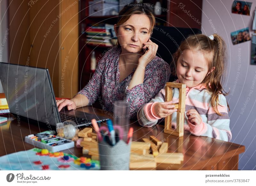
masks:
[[[147,15],[132,15],[124,24],[115,27],[122,52],[140,53],[143,43],[148,42],[150,37],[150,19]],[[116,25],[115,25],[116,26]]]

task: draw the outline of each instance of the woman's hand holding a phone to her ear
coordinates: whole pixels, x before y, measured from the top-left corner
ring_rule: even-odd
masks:
[[[146,68],[148,63],[156,57],[156,51],[158,49],[158,45],[156,43],[153,43],[150,39],[148,40],[147,43],[143,43],[145,46],[142,47],[142,49],[148,48],[146,50],[145,54],[143,54],[139,60],[138,60],[138,65],[142,66],[143,68]]]

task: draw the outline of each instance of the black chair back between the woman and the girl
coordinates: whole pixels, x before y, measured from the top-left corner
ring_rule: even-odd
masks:
[[[174,65],[171,64],[172,54],[179,49],[181,41],[194,34],[202,34],[202,32],[197,28],[156,26],[154,27],[151,41],[158,45],[156,55],[164,59],[173,68]],[[176,77],[171,75],[169,82],[175,79]]]

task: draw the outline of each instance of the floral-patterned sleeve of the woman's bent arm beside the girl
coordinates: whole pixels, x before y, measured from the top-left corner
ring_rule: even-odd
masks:
[[[136,112],[155,97],[156,94],[164,87],[166,80],[169,79],[170,67],[164,60],[156,57],[152,63],[153,65],[151,64],[150,67],[148,67],[145,75],[143,75],[143,73],[140,74],[139,69],[136,69],[136,71],[138,71],[134,72],[132,80],[125,91],[124,101],[128,102],[130,105],[130,118],[136,117]],[[138,77],[138,81],[135,76],[136,74],[141,76],[141,78]],[[134,83],[133,81],[136,81],[136,84],[140,84],[129,89],[131,84]]]

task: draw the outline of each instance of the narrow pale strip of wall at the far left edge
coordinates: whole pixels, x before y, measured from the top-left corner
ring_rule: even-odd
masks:
[[[1,51],[2,62],[9,62],[9,56],[8,56],[8,38],[9,37],[7,36],[7,38],[4,39],[4,35],[6,35],[5,34],[6,31],[8,32],[8,11],[6,11],[7,4],[8,4],[7,0],[0,1],[0,47],[3,47],[3,50]],[[0,93],[1,92],[4,92],[4,91],[0,81]]]

